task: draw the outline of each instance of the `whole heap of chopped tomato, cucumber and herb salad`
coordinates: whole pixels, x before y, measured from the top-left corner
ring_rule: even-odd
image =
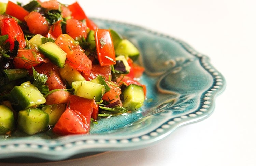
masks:
[[[143,105],[139,50],[78,2],[0,2],[0,31],[0,134],[87,134]]]

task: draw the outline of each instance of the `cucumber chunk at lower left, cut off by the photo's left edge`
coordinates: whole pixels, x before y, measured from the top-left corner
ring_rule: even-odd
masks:
[[[0,134],[6,134],[9,131],[14,130],[16,123],[14,120],[13,111],[1,104],[0,105]]]

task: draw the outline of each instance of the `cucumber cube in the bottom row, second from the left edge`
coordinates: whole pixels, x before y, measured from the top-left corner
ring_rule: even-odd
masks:
[[[28,135],[34,135],[49,129],[49,115],[41,109],[29,108],[19,111],[17,124]]]

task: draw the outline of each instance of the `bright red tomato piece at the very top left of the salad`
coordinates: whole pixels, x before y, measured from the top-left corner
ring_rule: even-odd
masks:
[[[7,2],[5,13],[16,17],[23,22],[25,21],[24,17],[29,14],[29,12],[25,10],[22,6],[19,6],[11,1]]]

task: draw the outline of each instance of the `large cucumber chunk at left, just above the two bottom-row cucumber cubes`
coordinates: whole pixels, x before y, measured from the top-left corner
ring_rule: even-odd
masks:
[[[12,107],[16,110],[27,109],[46,102],[42,93],[29,81],[22,83],[20,86],[15,86],[8,98]]]

